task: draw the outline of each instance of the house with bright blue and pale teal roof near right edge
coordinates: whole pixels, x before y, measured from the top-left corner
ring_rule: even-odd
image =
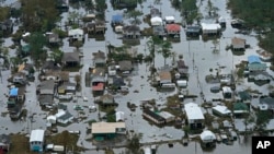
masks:
[[[251,55],[248,57],[248,70],[253,71],[265,71],[267,66],[266,63],[262,63],[259,56]]]

